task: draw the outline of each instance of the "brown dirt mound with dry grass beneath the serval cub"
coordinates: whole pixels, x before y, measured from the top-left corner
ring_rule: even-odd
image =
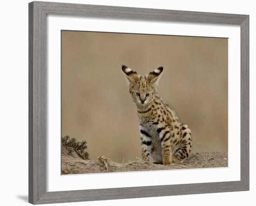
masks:
[[[153,164],[137,158],[138,161],[128,163],[113,162],[110,157],[100,156],[97,160],[84,160],[75,151],[62,147],[62,174],[107,173],[127,171],[147,171],[166,169],[191,169],[206,167],[228,167],[227,153],[195,153],[182,162],[175,162],[170,166]]]

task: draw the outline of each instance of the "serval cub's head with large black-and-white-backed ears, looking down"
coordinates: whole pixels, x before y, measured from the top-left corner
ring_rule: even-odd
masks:
[[[136,71],[131,70],[127,66],[122,66],[122,71],[128,82],[129,92],[133,101],[138,105],[147,105],[156,95],[156,86],[162,74],[163,67],[149,72],[149,74],[141,76]]]

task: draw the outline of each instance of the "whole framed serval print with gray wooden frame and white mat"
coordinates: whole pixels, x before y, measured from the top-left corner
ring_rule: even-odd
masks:
[[[30,203],[243,190],[248,15],[29,3]]]

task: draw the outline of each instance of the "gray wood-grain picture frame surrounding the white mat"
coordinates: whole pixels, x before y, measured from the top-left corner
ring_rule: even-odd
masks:
[[[249,15],[96,6],[34,1],[29,3],[29,202],[32,204],[111,200],[249,190]],[[214,23],[241,26],[241,180],[149,187],[46,191],[47,14],[99,18]],[[230,71],[232,72],[232,70]]]

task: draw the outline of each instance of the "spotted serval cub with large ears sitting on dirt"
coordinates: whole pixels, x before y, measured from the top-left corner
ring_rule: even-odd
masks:
[[[175,110],[156,94],[163,67],[145,76],[124,65],[122,71],[137,107],[142,159],[169,165],[172,161],[188,157],[191,153],[191,130],[181,122]]]

